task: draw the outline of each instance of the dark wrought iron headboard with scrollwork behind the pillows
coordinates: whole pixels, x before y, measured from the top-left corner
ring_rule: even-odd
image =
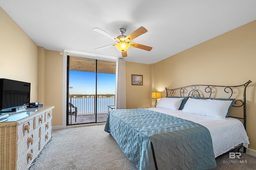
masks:
[[[246,87],[251,83],[252,81],[248,80],[246,83],[242,85],[236,85],[236,86],[220,86],[220,85],[188,85],[184,87],[179,87],[176,89],[166,89],[166,96],[190,96],[190,97],[205,97],[205,98],[217,98],[216,92],[220,89],[222,90],[221,94],[224,94],[225,97],[220,98],[226,98],[230,99],[232,95],[234,94],[234,89],[238,87],[243,87],[243,99],[235,99],[233,103],[233,107],[243,107],[244,110],[244,116],[243,117],[233,117],[237,119],[243,119],[244,120],[244,128],[246,129]],[[214,96],[215,95],[215,96]],[[214,96],[214,97],[213,97]],[[233,97],[232,97],[233,98]],[[232,117],[232,116],[229,116]]]

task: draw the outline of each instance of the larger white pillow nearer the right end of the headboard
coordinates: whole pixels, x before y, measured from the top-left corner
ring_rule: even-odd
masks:
[[[182,112],[225,119],[233,101],[189,98]]]

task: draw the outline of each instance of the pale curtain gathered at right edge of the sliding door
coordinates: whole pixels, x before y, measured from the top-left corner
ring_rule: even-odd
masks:
[[[126,109],[125,61],[118,59],[116,71],[116,109]]]

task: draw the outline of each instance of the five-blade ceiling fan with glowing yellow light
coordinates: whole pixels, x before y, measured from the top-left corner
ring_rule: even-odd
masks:
[[[135,30],[134,32],[132,32],[130,35],[125,36],[125,32],[126,29],[125,28],[120,28],[119,32],[122,34],[120,36],[112,36],[111,34],[101,30],[100,28],[94,28],[93,29],[96,32],[99,32],[100,34],[103,34],[104,36],[107,36],[109,38],[111,38],[112,40],[115,40],[116,43],[115,44],[110,44],[110,45],[105,45],[103,47],[98,47],[95,48],[96,50],[100,50],[100,49],[105,49],[111,46],[116,46],[116,48],[122,52],[122,57],[127,57],[127,49],[129,47],[136,47],[136,48],[140,48],[140,49],[144,49],[147,51],[151,51],[152,47],[146,46],[146,45],[141,45],[138,43],[131,43],[130,41],[132,41],[134,38],[148,32],[148,30],[146,30],[146,28],[144,27],[140,27],[137,30]]]

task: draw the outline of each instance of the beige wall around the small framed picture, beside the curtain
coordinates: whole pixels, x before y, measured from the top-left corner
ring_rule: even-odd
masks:
[[[126,108],[146,108],[151,105],[150,65],[125,62]],[[143,85],[132,85],[132,74],[143,75]]]

